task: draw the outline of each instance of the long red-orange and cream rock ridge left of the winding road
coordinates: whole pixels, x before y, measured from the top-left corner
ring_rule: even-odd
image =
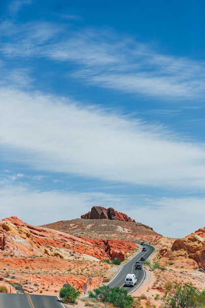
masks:
[[[115,247],[115,248],[114,248]],[[120,240],[91,240],[57,230],[36,227],[16,216],[0,220],[0,250],[14,256],[50,256],[60,259],[122,261],[136,245]]]

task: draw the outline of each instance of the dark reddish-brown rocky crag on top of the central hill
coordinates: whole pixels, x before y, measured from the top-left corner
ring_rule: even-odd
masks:
[[[113,208],[103,208],[103,207],[92,207],[91,211],[81,215],[84,219],[110,219],[110,220],[121,220],[135,222],[134,219],[130,218],[124,213],[119,213]]]

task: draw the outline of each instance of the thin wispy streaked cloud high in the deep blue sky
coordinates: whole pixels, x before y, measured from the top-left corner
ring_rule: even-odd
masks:
[[[1,46],[5,56],[13,57],[15,51],[16,57],[73,62],[76,79],[120,92],[161,99],[201,99],[205,94],[204,62],[163,55],[132,37],[103,30],[78,33],[66,29],[68,34],[62,41],[57,34],[65,34],[65,28],[59,25],[36,23],[22,27],[15,30],[19,35],[12,43]]]

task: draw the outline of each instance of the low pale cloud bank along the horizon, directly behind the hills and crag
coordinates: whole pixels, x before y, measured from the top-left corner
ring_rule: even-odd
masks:
[[[205,227],[205,198],[150,199],[100,192],[39,191],[14,185],[12,180],[0,187],[1,219],[18,216],[32,225],[80,218],[96,205],[113,207],[166,237],[182,238]]]

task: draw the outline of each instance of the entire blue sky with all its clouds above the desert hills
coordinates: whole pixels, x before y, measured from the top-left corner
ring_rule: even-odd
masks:
[[[0,3],[0,212],[205,227],[205,2]]]

